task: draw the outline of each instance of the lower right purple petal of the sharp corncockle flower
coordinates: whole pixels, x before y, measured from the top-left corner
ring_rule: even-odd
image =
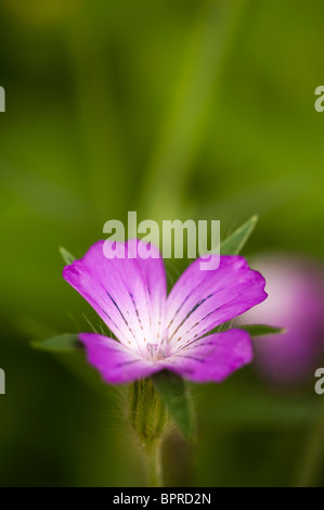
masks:
[[[166,360],[166,368],[194,382],[221,382],[251,360],[249,334],[232,329],[179,349]]]

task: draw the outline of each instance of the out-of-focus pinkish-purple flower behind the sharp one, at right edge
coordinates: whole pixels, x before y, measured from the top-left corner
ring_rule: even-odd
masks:
[[[275,384],[312,380],[324,350],[323,267],[288,255],[264,255],[252,266],[264,276],[269,297],[235,323],[274,324],[287,330],[255,341],[256,369]]]

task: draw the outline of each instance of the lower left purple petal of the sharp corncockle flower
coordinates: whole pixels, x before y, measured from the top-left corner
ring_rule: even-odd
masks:
[[[132,349],[108,336],[80,333],[79,339],[85,344],[88,362],[99,370],[107,383],[129,383],[147,378],[161,369],[160,366],[140,358]]]

